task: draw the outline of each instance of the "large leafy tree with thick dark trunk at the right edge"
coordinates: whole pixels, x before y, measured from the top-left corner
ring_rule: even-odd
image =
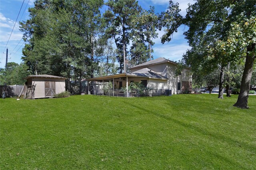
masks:
[[[255,4],[255,1],[246,0],[198,0],[195,4],[189,5],[186,18],[174,21],[173,19],[178,16],[177,4],[170,2],[169,9],[172,11],[162,15],[164,17],[170,14],[170,17],[162,21],[163,26],[167,27],[162,42],[170,41],[176,28],[180,24],[186,24],[189,30],[184,34],[192,51],[198,52],[198,46],[201,46],[205,53],[200,55],[201,61],[206,60],[215,67],[220,65],[220,68],[223,68],[228,63],[238,62],[243,54],[246,54],[241,93],[234,105],[242,108],[247,108],[250,77],[255,59]],[[191,61],[193,62],[192,59]],[[204,62],[200,65],[202,63]],[[222,74],[220,82],[223,82]]]

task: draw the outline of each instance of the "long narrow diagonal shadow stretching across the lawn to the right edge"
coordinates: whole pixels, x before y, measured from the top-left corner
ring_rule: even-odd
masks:
[[[237,140],[234,140],[234,139],[232,139],[232,138],[230,138],[230,137],[227,137],[227,136],[224,136],[224,135],[222,135],[222,134],[216,134],[216,133],[213,133],[213,132],[209,132],[209,131],[207,131],[207,130],[205,130],[205,129],[202,129],[202,128],[200,128],[200,127],[196,127],[196,126],[194,126],[194,125],[191,125],[191,124],[188,124],[188,123],[184,123],[184,122],[182,122],[182,121],[173,119],[173,118],[168,117],[168,116],[166,116],[166,115],[162,115],[162,114],[159,114],[159,113],[154,113],[154,112],[152,112],[152,111],[149,110],[149,109],[145,109],[145,108],[142,108],[142,107],[138,107],[138,106],[132,105],[132,104],[130,104],[130,106],[135,107],[135,108],[137,108],[137,109],[140,109],[140,110],[142,110],[142,111],[144,111],[144,112],[146,112],[146,113],[149,113],[149,114],[151,113],[151,114],[153,114],[153,115],[155,115],[155,116],[157,116],[157,117],[164,118],[164,119],[166,119],[166,120],[168,120],[168,121],[172,121],[172,122],[174,122],[174,123],[176,123],[176,124],[178,124],[178,125],[181,125],[182,127],[185,127],[185,128],[188,128],[188,129],[193,129],[193,130],[195,130],[195,131],[197,131],[197,132],[199,132],[199,133],[201,133],[201,134],[203,134],[203,135],[208,135],[208,136],[214,137],[214,138],[216,138],[216,139],[218,139],[218,140],[222,140],[222,141],[224,141],[224,142],[227,142],[227,143],[230,144],[230,145],[242,147],[242,148],[244,148],[245,150],[248,150],[249,152],[251,152],[252,150],[256,150],[256,147],[255,147],[255,146],[248,145],[248,144],[245,143],[245,142],[238,142]]]

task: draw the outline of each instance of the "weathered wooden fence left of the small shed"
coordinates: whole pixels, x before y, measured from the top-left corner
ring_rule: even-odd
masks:
[[[2,94],[6,91],[6,97],[14,97],[18,96],[22,91],[23,85],[0,85],[0,97],[2,98]]]

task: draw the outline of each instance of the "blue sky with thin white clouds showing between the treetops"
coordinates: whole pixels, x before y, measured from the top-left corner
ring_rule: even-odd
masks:
[[[12,28],[18,16],[20,7],[22,6],[23,0],[0,0],[0,67],[5,66],[6,60],[6,43],[12,32]],[[161,13],[166,11],[169,0],[138,0],[142,8],[148,10],[150,6],[155,7],[155,12]],[[187,4],[193,4],[193,0],[174,0],[180,4],[181,14],[186,15]],[[18,20],[7,44],[8,48],[8,62],[22,62],[22,48],[24,47],[24,42],[21,40],[23,33],[19,30],[19,21],[27,20],[29,18],[28,8],[34,6],[34,0],[25,0],[18,16]],[[26,7],[26,8],[25,8]],[[23,14],[23,15],[22,15]],[[164,29],[158,31],[158,38],[154,40],[155,44],[153,46],[154,59],[158,57],[165,57],[170,60],[178,61],[182,58],[183,53],[189,48],[187,40],[184,39],[183,32],[187,30],[185,26],[180,26],[178,32],[174,33],[173,39],[169,43],[162,44],[161,36],[164,34]],[[20,41],[21,40],[21,41]],[[20,43],[19,43],[20,42]],[[19,44],[18,44],[19,43]],[[18,44],[18,45],[17,45]],[[17,47],[16,47],[17,45]],[[16,48],[15,48],[16,47]],[[5,48],[5,49],[4,49]],[[15,49],[14,49],[15,48]],[[20,48],[20,49],[19,49]],[[17,52],[16,52],[17,51]],[[4,53],[3,53],[4,52]],[[11,53],[11,54],[10,54]]]

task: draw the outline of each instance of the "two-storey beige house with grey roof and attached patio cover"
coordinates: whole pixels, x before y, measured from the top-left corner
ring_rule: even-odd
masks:
[[[189,68],[177,73],[178,63],[163,57],[147,61],[130,68],[131,73],[120,73],[88,79],[88,81],[111,81],[114,89],[128,87],[130,82],[141,82],[145,87],[154,91],[170,91],[172,94],[183,93],[192,90],[192,76]],[[128,89],[126,89],[128,94]]]

